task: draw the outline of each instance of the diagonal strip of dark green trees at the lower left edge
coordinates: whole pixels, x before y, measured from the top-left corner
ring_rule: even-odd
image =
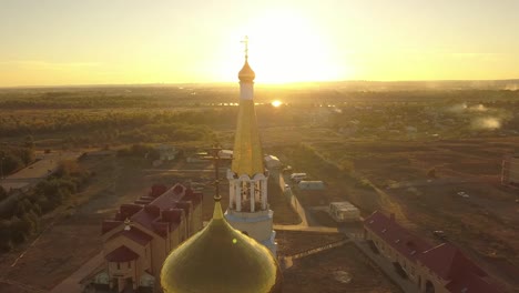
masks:
[[[13,209],[0,215],[0,251],[9,251],[39,232],[40,218],[78,192],[88,178],[89,173],[75,161],[63,161],[52,176],[20,195]]]

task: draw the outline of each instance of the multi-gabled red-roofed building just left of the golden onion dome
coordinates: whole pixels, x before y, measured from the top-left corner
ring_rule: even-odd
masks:
[[[104,267],[94,284],[122,292],[161,292],[160,272],[170,251],[202,230],[202,193],[182,184],[153,185],[122,204],[101,226]]]

